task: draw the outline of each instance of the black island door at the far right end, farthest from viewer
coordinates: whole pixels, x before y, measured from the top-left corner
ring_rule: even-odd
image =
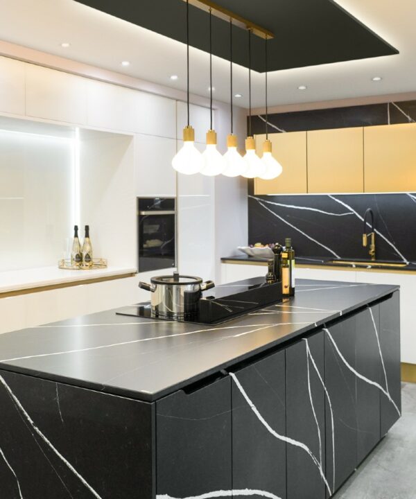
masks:
[[[381,437],[399,419],[401,412],[400,381],[400,304],[399,291],[380,304],[380,347],[383,359],[381,392]]]

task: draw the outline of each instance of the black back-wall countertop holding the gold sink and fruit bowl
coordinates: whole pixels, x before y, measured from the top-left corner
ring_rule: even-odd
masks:
[[[391,261],[392,266],[385,266],[385,265],[377,265],[377,263],[371,263],[371,267],[365,267],[365,265],[356,265],[354,263],[333,263],[333,258],[327,258],[327,259],[322,259],[314,256],[296,256],[295,257],[297,265],[308,265],[313,266],[313,265],[324,265],[325,267],[329,268],[354,268],[354,269],[363,269],[363,270],[370,270],[370,269],[375,269],[375,270],[388,270],[391,272],[394,270],[395,272],[416,272],[416,263],[415,262],[408,262],[406,265],[403,267],[395,267],[394,264],[396,263],[402,263],[401,261]],[[349,259],[342,259],[343,261],[348,261]],[[240,262],[247,262],[247,263],[264,263],[266,265],[268,259],[267,258],[257,258],[255,256],[248,256],[246,254],[237,254],[233,256],[225,256],[221,259],[223,263],[240,263]]]

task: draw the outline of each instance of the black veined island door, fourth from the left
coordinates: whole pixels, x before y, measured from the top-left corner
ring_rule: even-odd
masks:
[[[356,317],[325,329],[327,480],[336,491],[357,464]]]

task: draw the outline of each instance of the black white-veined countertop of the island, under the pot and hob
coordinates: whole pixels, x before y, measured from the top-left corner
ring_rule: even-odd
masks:
[[[395,290],[299,279],[295,297],[219,326],[107,310],[0,335],[0,368],[155,401]]]

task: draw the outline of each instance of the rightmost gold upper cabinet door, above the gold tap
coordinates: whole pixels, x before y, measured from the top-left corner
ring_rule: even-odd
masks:
[[[365,192],[416,191],[416,123],[364,129]]]

